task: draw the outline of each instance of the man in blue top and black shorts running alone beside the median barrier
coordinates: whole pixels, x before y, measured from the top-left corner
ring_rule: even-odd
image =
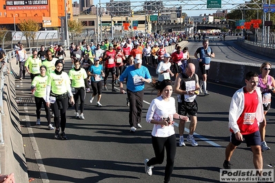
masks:
[[[199,57],[198,54],[200,55]],[[198,66],[201,69],[201,74],[203,74],[203,80],[201,80],[200,87],[203,85],[204,94],[205,96],[207,96],[209,95],[206,90],[207,74],[210,69],[211,58],[215,57],[215,54],[209,46],[209,41],[207,39],[203,40],[203,47],[199,47],[196,50],[194,56],[198,61]],[[202,92],[202,90],[200,90],[200,92]]]

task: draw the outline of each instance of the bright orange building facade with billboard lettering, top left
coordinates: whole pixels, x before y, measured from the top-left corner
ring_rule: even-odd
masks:
[[[60,27],[59,17],[65,17],[65,0],[0,0],[0,25],[8,26],[32,19],[43,28]],[[67,12],[72,14],[72,0],[66,0]]]

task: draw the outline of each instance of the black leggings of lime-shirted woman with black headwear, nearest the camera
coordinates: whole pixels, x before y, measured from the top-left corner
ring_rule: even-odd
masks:
[[[64,131],[66,126],[66,111],[68,109],[68,97],[63,98],[63,100],[61,101],[62,109],[59,109],[57,100],[55,101],[55,103],[51,104],[52,110],[54,111],[54,125],[57,129],[61,127],[61,131]],[[59,116],[61,116],[61,118],[59,118]]]

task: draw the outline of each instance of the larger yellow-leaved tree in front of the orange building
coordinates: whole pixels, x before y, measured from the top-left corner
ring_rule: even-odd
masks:
[[[32,39],[34,45],[34,39],[37,36],[37,32],[41,29],[41,24],[31,19],[27,21],[20,19],[18,28],[23,32],[23,35],[26,36],[27,45],[30,47],[30,39]]]

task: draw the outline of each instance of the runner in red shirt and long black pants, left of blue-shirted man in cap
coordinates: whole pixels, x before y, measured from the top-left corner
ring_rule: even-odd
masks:
[[[116,92],[114,89],[114,78],[116,77],[116,63],[114,62],[114,57],[116,56],[116,51],[113,50],[113,45],[109,45],[109,50],[105,52],[103,59],[105,60],[105,77],[104,77],[104,89],[107,89],[107,78],[109,76],[109,72],[112,74],[112,92]]]

